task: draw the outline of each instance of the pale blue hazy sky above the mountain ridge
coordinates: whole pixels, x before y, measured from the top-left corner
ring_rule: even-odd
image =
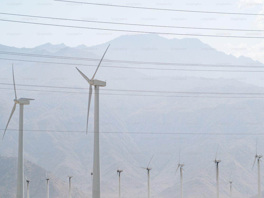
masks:
[[[76,0],[78,1],[78,0]],[[80,0],[80,2],[88,2]],[[231,0],[231,1],[89,1],[120,6],[136,6],[148,8],[161,8],[172,10],[206,11],[206,12],[232,12],[264,14],[264,0]],[[139,8],[124,8],[105,5],[92,5],[84,3],[69,3],[61,1],[9,1],[0,2],[1,13],[19,15],[42,16],[53,18],[66,18],[75,20],[89,20],[97,22],[55,20],[28,16],[13,16],[0,14],[0,44],[16,46],[19,48],[33,48],[45,43],[60,44],[75,47],[85,44],[87,46],[105,43],[120,35],[138,34],[128,32],[145,31],[174,33],[187,35],[165,35],[166,38],[197,37],[202,42],[211,45],[219,51],[235,56],[245,55],[254,60],[264,62],[264,39],[261,38],[227,38],[202,35],[228,35],[228,36],[255,36],[264,37],[260,31],[227,31],[227,30],[201,30],[172,27],[151,27],[123,24],[107,24],[98,22],[133,23],[142,25],[264,30],[264,15],[234,15],[219,13],[197,13],[180,11],[149,10]],[[60,27],[38,25],[29,23],[46,23],[66,26],[79,26],[99,29],[114,29],[126,31],[95,30],[75,27]]]

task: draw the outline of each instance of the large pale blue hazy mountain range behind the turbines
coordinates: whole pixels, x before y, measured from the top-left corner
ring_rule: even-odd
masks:
[[[50,51],[54,45],[44,44],[43,48],[36,47],[31,52],[89,60],[2,54],[1,57],[6,59],[39,61],[12,61],[17,96],[35,98],[24,108],[25,160],[48,169],[65,182],[70,166],[74,185],[88,196],[91,195],[90,172],[93,166],[91,132],[94,103],[92,97],[89,133],[86,135],[88,84],[75,67],[91,78],[108,44],[106,60],[262,65],[247,57],[226,55],[198,39],[169,40],[155,34],[120,36],[90,47],[79,45],[69,48],[60,44],[62,48],[54,53]],[[23,53],[23,48],[3,48]],[[14,91],[12,62],[1,59],[0,62],[3,65],[0,67],[0,125],[4,129],[13,106]],[[218,144],[218,157],[222,160],[219,164],[221,197],[229,195],[226,183],[231,170],[233,197],[250,197],[257,193],[257,167],[253,171],[251,169],[256,150],[257,135],[254,134],[263,132],[264,106],[262,98],[254,98],[262,95],[247,93],[264,93],[264,88],[257,86],[262,82],[261,72],[128,69],[124,67],[193,69],[194,66],[107,61],[103,61],[101,66],[96,78],[107,82],[106,87],[100,88],[102,197],[118,195],[118,160],[119,168],[124,170],[121,173],[122,197],[146,197],[147,172],[140,166],[147,166],[153,154],[150,163],[153,168],[150,171],[151,196],[178,195],[180,178],[178,172],[175,177],[174,173],[180,147],[181,163],[185,163],[185,197],[213,197],[216,191],[213,160]],[[241,68],[230,70],[237,69]],[[18,134],[15,130],[18,129],[18,109],[8,129],[0,144],[0,154],[17,157]],[[218,135],[213,135],[215,133]],[[262,135],[258,135],[258,151],[261,153],[263,149]],[[12,174],[8,175],[16,180],[15,173]],[[6,193],[13,192],[12,189],[6,190]]]

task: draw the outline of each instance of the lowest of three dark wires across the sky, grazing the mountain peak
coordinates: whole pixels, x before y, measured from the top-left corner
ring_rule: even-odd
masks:
[[[133,30],[114,30],[114,29],[103,29],[103,28],[92,28],[92,27],[55,25],[55,24],[47,24],[47,23],[33,23],[33,22],[26,22],[26,21],[12,21],[12,20],[4,20],[4,19],[0,19],[0,21],[9,21],[9,22],[18,22],[18,23],[30,23],[30,24],[37,24],[37,25],[51,25],[51,26],[59,26],[59,27],[75,27],[75,28],[84,28],[84,29],[93,29],[93,30],[121,31],[121,32],[153,33],[153,34],[169,34],[169,35],[185,35],[185,36],[188,35],[188,36],[213,36],[213,37],[264,39],[264,37],[256,37],[256,36],[224,36],[224,35],[203,35],[203,34],[177,34],[177,33],[168,33],[168,32],[164,33],[164,32],[147,32],[147,31],[133,31]]]

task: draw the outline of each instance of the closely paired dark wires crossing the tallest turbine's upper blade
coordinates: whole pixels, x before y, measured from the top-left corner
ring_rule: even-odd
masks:
[[[51,55],[41,55],[41,54],[26,54],[26,53],[5,52],[5,51],[0,51],[0,54],[23,55],[23,56],[33,56],[33,57],[41,57],[41,58],[71,59],[71,60],[89,60],[89,61],[99,61],[99,60],[101,60],[101,59],[77,58],[77,57],[67,57],[67,56],[51,56]],[[136,64],[153,64],[153,65],[176,65],[176,66],[202,66],[202,67],[245,67],[245,68],[263,68],[264,67],[264,66],[246,66],[246,65],[216,65],[216,64],[214,65],[214,64],[138,62],[138,61],[125,61],[125,60],[102,60],[102,62],[136,63]]]

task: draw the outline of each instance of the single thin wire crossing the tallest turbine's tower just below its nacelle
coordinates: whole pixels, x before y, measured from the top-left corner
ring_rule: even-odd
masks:
[[[0,89],[11,89],[12,88],[0,88]],[[48,90],[34,90],[34,89],[16,89],[16,90],[24,90],[24,91],[42,91],[42,92],[56,92],[56,93],[83,93],[83,94],[89,94],[87,92],[67,92],[67,91],[48,91]],[[102,89],[103,90],[103,89]],[[96,94],[96,93],[93,93]],[[263,97],[253,97],[253,96],[172,96],[172,95],[139,95],[139,94],[117,94],[117,93],[99,93],[100,95],[118,95],[118,96],[165,96],[165,97],[193,97],[193,98],[264,98]]]

